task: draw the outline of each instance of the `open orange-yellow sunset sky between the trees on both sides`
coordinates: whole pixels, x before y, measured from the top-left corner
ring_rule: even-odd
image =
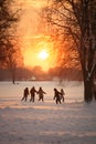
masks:
[[[53,43],[49,41],[50,37],[45,32],[45,23],[41,22],[40,12],[45,4],[46,0],[19,0],[18,8],[22,9],[22,17],[18,30],[22,39],[24,65],[39,65],[46,71],[54,66],[55,53]],[[41,54],[42,51],[44,55]]]

